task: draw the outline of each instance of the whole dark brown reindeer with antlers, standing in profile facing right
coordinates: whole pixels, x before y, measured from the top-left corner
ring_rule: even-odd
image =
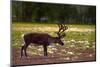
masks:
[[[59,31],[56,32],[58,35],[57,37],[53,37],[47,33],[27,33],[23,35],[23,41],[24,44],[21,47],[21,58],[23,56],[23,51],[25,53],[25,56],[27,57],[27,47],[33,43],[35,46],[42,45],[44,48],[44,56],[47,56],[47,46],[49,46],[51,43],[58,43],[60,45],[64,45],[62,42],[62,38],[65,36],[64,31],[68,29],[68,27],[65,24],[58,24]]]

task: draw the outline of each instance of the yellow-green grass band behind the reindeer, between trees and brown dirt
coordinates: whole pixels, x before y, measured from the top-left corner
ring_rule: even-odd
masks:
[[[68,31],[66,31],[66,37],[64,37],[65,45],[68,48],[72,45],[74,47],[93,47],[93,43],[96,39],[95,25],[67,25]],[[74,30],[74,28],[77,28]],[[78,31],[79,30],[79,31]],[[12,47],[20,48],[23,41],[21,35],[27,32],[43,32],[48,33],[51,36],[57,36],[55,32],[58,31],[56,24],[39,24],[39,23],[12,23]],[[73,42],[73,40],[75,42]],[[68,42],[69,41],[69,42]],[[84,43],[80,43],[83,41]],[[89,44],[84,45],[85,41]],[[77,46],[78,45],[78,46]],[[88,47],[88,48],[89,48]]]

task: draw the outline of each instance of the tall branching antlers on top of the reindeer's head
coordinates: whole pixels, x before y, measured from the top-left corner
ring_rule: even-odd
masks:
[[[58,27],[59,27],[59,31],[57,32],[57,35],[59,38],[62,38],[65,36],[64,31],[67,30],[68,27],[65,24],[58,24]]]

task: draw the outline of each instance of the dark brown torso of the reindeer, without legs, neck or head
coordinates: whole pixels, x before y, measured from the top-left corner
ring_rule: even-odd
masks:
[[[47,33],[27,33],[24,35],[25,42],[35,44],[47,44],[51,36]]]

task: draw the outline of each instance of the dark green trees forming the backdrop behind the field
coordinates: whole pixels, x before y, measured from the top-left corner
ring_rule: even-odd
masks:
[[[51,23],[95,24],[96,6],[12,1],[13,21],[42,22],[42,17]]]

